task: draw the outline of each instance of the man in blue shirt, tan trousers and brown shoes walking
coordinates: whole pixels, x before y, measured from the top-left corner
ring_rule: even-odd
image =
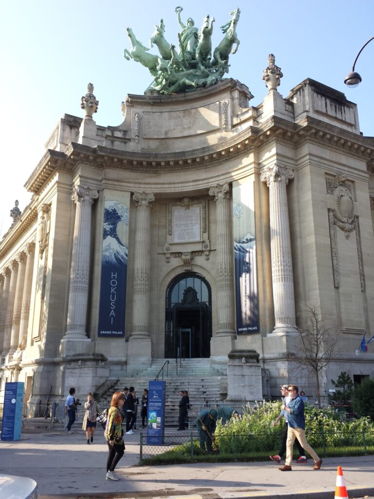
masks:
[[[295,438],[297,438],[303,449],[314,459],[313,470],[319,470],[322,465],[322,459],[314,452],[305,438],[305,417],[304,417],[304,402],[299,395],[299,389],[296,385],[288,386],[288,393],[291,395],[291,400],[282,405],[282,409],[288,412],[288,432],[286,444],[286,464],[279,468],[280,471],[292,471],[292,452]]]

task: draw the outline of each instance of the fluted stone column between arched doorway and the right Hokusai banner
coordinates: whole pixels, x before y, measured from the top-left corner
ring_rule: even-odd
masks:
[[[233,336],[233,246],[231,234],[230,192],[228,184],[209,189],[214,196],[217,225],[217,335]]]

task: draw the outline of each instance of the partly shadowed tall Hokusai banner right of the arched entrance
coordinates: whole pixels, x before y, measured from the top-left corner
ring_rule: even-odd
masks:
[[[233,183],[236,334],[260,331],[253,181]]]

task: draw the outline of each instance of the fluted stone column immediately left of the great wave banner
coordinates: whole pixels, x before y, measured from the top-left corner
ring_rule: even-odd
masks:
[[[76,186],[71,199],[76,204],[73,251],[71,257],[67,330],[64,339],[84,339],[91,246],[91,209],[98,192],[90,187]]]

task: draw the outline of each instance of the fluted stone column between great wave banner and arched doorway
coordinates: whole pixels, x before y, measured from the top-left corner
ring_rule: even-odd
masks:
[[[153,194],[135,193],[137,207],[135,247],[134,247],[134,284],[133,284],[133,328],[131,338],[149,338],[149,294],[151,266],[151,208],[155,201]]]

